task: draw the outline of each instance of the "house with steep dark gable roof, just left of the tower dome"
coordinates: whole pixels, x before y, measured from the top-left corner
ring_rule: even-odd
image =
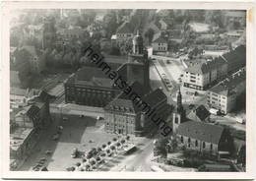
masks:
[[[134,30],[131,27],[128,21],[124,22],[117,30],[116,30],[116,39],[124,40],[127,38],[133,37]]]

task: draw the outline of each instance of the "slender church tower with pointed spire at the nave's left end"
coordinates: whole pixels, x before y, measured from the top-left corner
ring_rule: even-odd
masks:
[[[172,129],[173,133],[176,133],[178,126],[186,120],[186,112],[182,105],[182,95],[180,89],[177,93],[177,106],[172,114]]]

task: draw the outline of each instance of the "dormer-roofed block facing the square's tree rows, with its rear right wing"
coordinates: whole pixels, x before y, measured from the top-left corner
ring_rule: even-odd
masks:
[[[167,104],[166,95],[160,91],[150,91],[145,94],[143,86],[134,82],[131,85],[133,92],[147,102],[151,110],[155,109],[161,119],[166,118],[171,107]],[[131,94],[120,93],[104,107],[105,131],[115,134],[132,134],[142,136],[156,125],[147,118],[145,110]]]

